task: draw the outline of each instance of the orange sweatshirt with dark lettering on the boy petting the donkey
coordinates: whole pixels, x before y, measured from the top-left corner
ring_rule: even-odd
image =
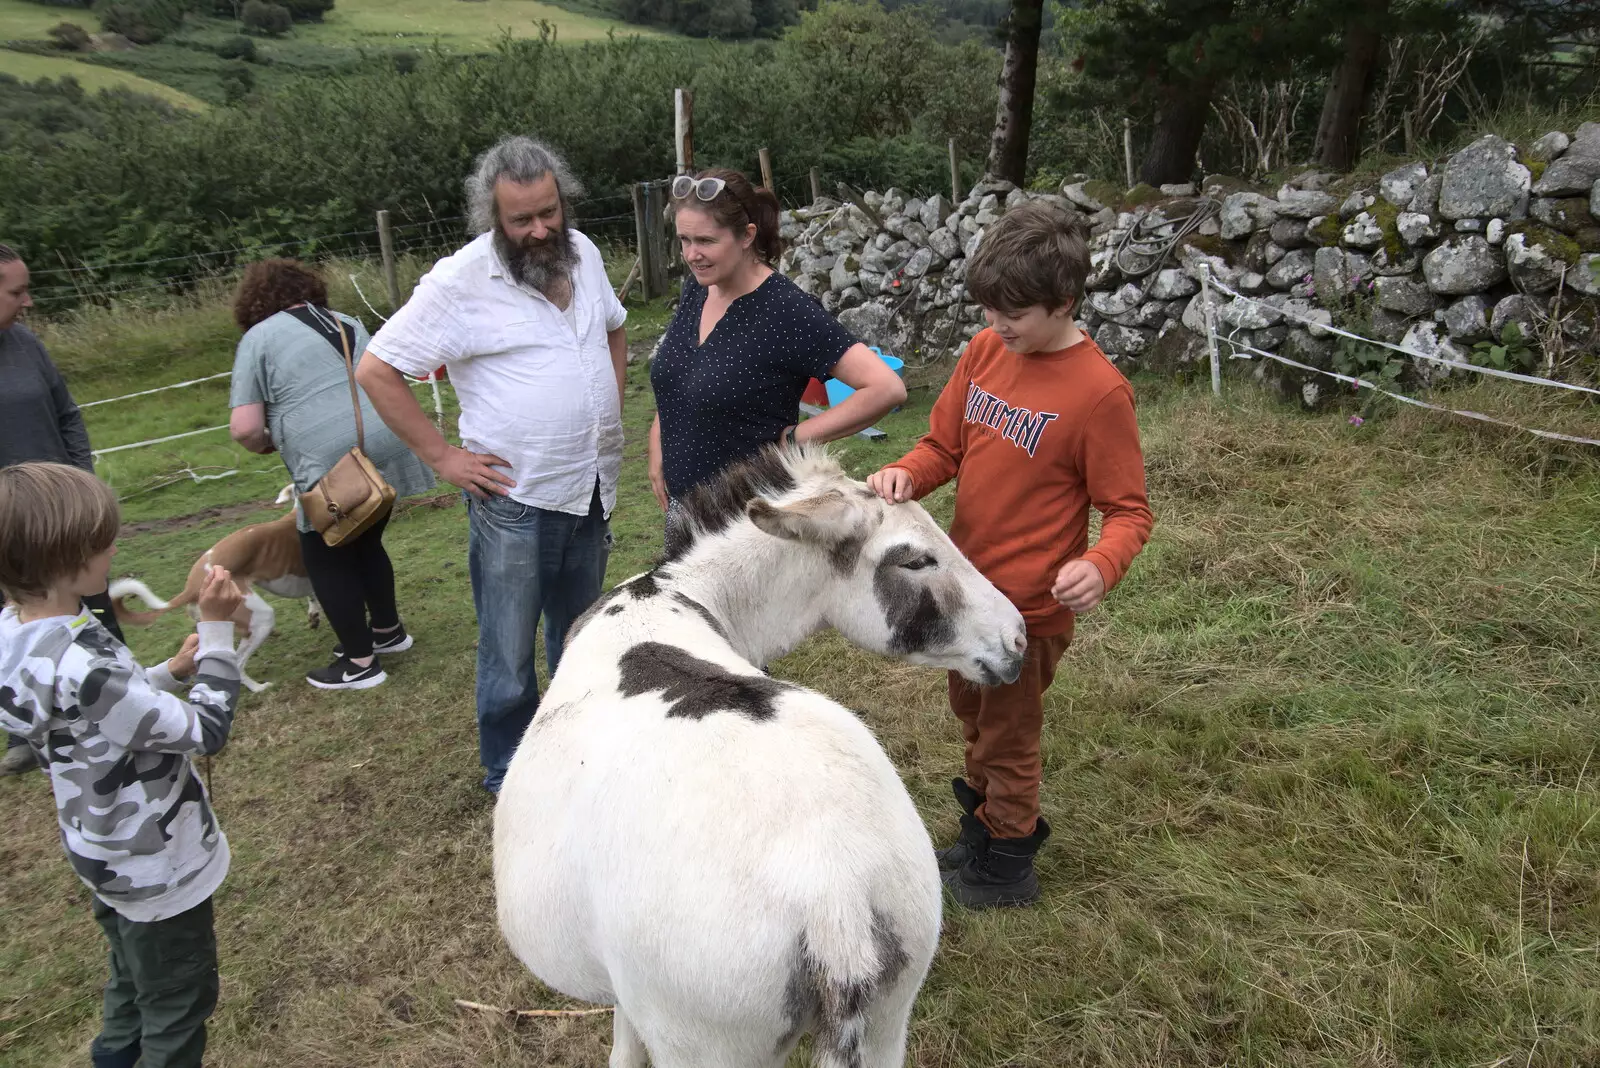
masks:
[[[955,478],[950,540],[1005,593],[1034,635],[1072,630],[1050,588],[1069,560],[1090,560],[1106,590],[1150,537],[1133,389],[1085,337],[1018,355],[986,329],[966,345],[928,417],[893,467],[923,497]],[[1102,516],[1088,547],[1090,505]]]

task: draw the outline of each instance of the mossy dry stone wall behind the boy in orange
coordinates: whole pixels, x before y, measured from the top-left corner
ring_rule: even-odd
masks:
[[[984,321],[966,261],[1002,214],[1034,198],[1088,217],[1093,270],[1078,318],[1128,369],[1206,361],[1203,269],[1250,297],[1211,291],[1221,336],[1317,368],[1336,363],[1325,325],[1474,361],[1474,344],[1501,339],[1507,323],[1531,358],[1558,350],[1558,369],[1597,366],[1600,123],[1526,147],[1485,136],[1366,181],[1306,171],[1275,190],[1226,176],[1122,190],[1078,176],[1054,193],[986,181],[958,205],[896,189],[819,200],[784,213],[781,269],[888,352],[955,355]],[[1302,403],[1326,395],[1320,376],[1254,366]],[[1408,384],[1430,384],[1440,366],[1411,361]]]

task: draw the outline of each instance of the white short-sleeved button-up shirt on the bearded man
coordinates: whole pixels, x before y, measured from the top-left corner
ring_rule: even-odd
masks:
[[[627,320],[600,249],[578,249],[563,312],[517,283],[491,233],[434,264],[366,352],[411,377],[445,365],[461,401],[461,443],[510,464],[510,497],[589,515],[595,480],[610,516],[622,467],[622,408],[606,333]]]

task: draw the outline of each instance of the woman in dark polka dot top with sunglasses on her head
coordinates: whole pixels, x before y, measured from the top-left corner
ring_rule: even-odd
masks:
[[[672,216],[693,278],[650,368],[656,420],[650,483],[667,510],[693,486],[771,441],[832,441],[906,400],[878,357],[774,269],[778,197],[738,171],[678,176]],[[854,387],[798,425],[813,377]]]

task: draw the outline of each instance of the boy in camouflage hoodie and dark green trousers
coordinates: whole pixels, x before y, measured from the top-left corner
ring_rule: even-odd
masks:
[[[61,841],[110,942],[94,1068],[198,1068],[216,1007],[211,894],[227,875],[190,756],[227,740],[242,596],[221,568],[198,635],[149,671],[83,609],[106,590],[117,497],[64,464],[0,468],[0,727],[48,767]],[[194,675],[189,700],[178,679]],[[141,1062],[142,1055],[142,1062]]]

